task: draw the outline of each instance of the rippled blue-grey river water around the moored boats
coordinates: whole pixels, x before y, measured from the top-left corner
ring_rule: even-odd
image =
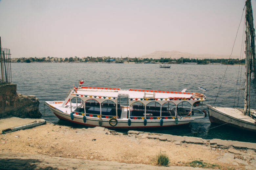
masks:
[[[117,87],[121,89],[151,89],[202,93],[206,88],[205,104],[213,105],[227,65],[172,64],[171,68],[159,68],[159,64],[135,63],[12,63],[12,82],[17,93],[36,95],[40,101],[42,118],[59,125],[81,127],[60,121],[45,106],[44,101],[64,100],[69,89],[84,80],[84,86]],[[242,68],[241,84],[237,85],[238,70]],[[215,106],[243,108],[244,66],[229,65]],[[240,82],[240,80],[239,80]],[[237,90],[236,90],[237,89]],[[236,93],[237,91],[237,93]],[[240,94],[238,95],[238,92]],[[251,107],[255,109],[255,92]],[[239,97],[239,102],[238,102]],[[236,99],[236,100],[235,100]],[[205,108],[206,109],[206,108]],[[225,139],[256,143],[256,134],[228,126],[211,124],[208,115],[189,125],[150,129],[149,132],[173,135],[197,136],[204,139]]]

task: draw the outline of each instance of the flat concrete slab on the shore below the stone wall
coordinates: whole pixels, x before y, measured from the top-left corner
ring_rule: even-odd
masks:
[[[29,118],[18,118],[11,117],[0,119],[0,132],[16,131],[20,129],[30,128],[45,124],[44,119],[29,119]]]

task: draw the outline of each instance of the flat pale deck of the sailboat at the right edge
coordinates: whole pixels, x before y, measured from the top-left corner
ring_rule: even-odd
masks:
[[[256,123],[256,120],[254,120],[252,117],[248,115],[244,115],[243,109],[238,109],[238,108],[223,108],[223,107],[213,107],[214,109],[223,112],[226,115],[232,116],[236,119],[240,119],[246,122],[250,123]],[[256,110],[251,109],[250,110],[251,114],[255,114]]]

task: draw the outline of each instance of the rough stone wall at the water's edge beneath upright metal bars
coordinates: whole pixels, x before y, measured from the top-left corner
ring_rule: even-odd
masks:
[[[0,118],[39,118],[39,100],[36,96],[16,93],[16,84],[0,85]]]

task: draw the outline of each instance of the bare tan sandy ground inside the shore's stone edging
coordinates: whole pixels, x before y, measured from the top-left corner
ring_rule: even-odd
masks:
[[[219,164],[224,169],[234,167],[232,164],[224,164],[217,160],[227,152],[225,149],[213,150],[209,146],[200,144],[176,145],[174,142],[139,139],[135,136],[109,135],[102,129],[104,128],[74,129],[47,123],[30,129],[0,134],[0,150],[149,165],[155,165],[155,157],[161,151],[169,156],[170,165],[184,166],[186,162],[198,160]]]

